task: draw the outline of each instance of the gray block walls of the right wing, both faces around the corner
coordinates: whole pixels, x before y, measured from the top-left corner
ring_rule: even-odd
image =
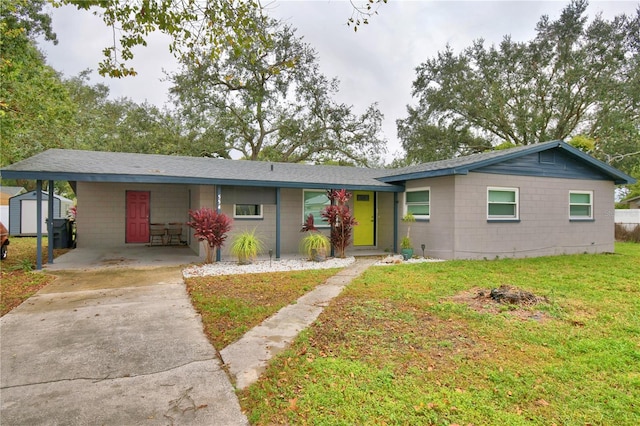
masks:
[[[519,189],[519,221],[487,220],[487,187]],[[407,188],[430,187],[431,218],[411,227],[414,249],[441,259],[495,259],[613,252],[610,181],[470,173],[421,179]],[[569,220],[569,191],[593,191],[591,221]],[[401,197],[400,209],[404,198]],[[400,210],[402,212],[402,210]],[[402,224],[401,238],[406,233]]]

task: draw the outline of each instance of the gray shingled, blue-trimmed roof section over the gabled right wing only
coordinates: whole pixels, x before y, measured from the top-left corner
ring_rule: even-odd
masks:
[[[431,163],[389,170],[386,176],[380,177],[380,180],[382,182],[393,183],[436,176],[466,175],[471,171],[478,170],[483,167],[550,149],[559,149],[573,157],[575,160],[586,163],[590,167],[611,178],[611,180],[618,185],[631,184],[635,182],[635,179],[631,176],[559,140],[519,146],[504,150],[483,152],[480,154],[457,157],[450,160],[434,161]]]

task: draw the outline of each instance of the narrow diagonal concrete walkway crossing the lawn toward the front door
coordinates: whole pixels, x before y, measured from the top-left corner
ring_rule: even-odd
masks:
[[[262,324],[249,330],[240,340],[220,351],[236,387],[244,389],[258,380],[271,358],[282,352],[300,333],[318,318],[323,308],[354,278],[378,259],[357,258],[351,266],[329,278],[326,283],[286,306]]]

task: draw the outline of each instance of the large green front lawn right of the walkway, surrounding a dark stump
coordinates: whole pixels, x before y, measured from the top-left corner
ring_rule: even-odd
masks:
[[[640,245],[616,250],[369,268],[241,405],[252,424],[640,424]],[[549,303],[454,299],[502,284]]]

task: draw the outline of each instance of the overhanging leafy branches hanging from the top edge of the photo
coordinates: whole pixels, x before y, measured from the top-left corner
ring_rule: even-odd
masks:
[[[146,46],[147,37],[160,31],[171,38],[169,49],[177,58],[192,60],[194,51],[207,49],[216,59],[228,44],[245,48],[259,41],[256,16],[263,16],[260,0],[49,0],[54,5],[72,4],[100,14],[112,28],[114,43],[103,49],[99,72],[111,77],[135,75],[129,66],[133,50]],[[357,31],[377,14],[387,0],[351,1],[347,25]],[[270,3],[267,3],[267,5]],[[116,42],[116,39],[118,40]]]

